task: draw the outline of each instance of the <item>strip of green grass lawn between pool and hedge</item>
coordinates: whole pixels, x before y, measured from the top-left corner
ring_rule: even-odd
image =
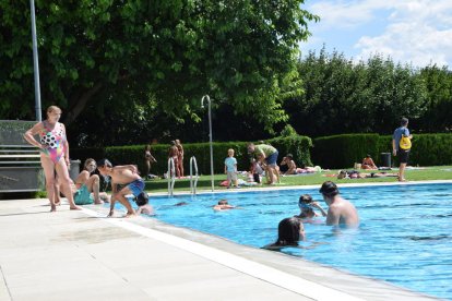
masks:
[[[348,168],[347,170],[352,170]],[[361,172],[369,172],[360,170]],[[384,171],[384,170],[383,170]],[[397,173],[397,169],[386,170],[386,172]],[[322,171],[316,173],[309,173],[307,176],[290,176],[282,177],[281,184],[276,186],[292,186],[292,185],[321,185],[324,181],[333,181],[337,184],[342,183],[374,183],[374,182],[396,182],[396,178],[369,178],[369,179],[343,179],[337,180],[336,177],[330,178],[324,174],[337,173],[337,170]],[[428,180],[452,180],[452,166],[433,166],[425,167],[423,169],[413,169],[405,171],[405,178],[408,181],[428,181]],[[243,179],[239,176],[239,179]],[[215,174],[214,185],[215,191],[226,191],[226,188],[219,186],[219,182],[226,180],[226,174]],[[245,179],[243,179],[245,180]],[[198,180],[197,191],[211,191],[211,176],[201,176]],[[252,188],[267,188],[269,185],[260,185]],[[146,181],[147,192],[167,192],[168,180],[147,180]],[[248,186],[242,186],[242,190],[247,190]],[[177,179],[175,183],[175,192],[190,192],[190,180],[189,179]]]

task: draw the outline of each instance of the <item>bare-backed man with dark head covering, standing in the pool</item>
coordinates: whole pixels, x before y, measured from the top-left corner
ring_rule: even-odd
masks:
[[[357,227],[359,225],[358,212],[355,206],[340,195],[335,183],[326,181],[322,184],[319,192],[328,205],[326,225]]]

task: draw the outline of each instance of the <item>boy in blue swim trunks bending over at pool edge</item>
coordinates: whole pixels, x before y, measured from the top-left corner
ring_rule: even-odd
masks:
[[[144,181],[138,174],[138,169],[134,165],[115,166],[108,159],[102,159],[97,162],[97,169],[102,176],[108,176],[111,178],[111,200],[110,200],[110,213],[108,217],[114,215],[115,202],[118,200],[126,208],[126,217],[135,215],[135,210],[130,205],[126,195],[133,194],[135,197],[144,189]],[[118,185],[122,188],[118,191]]]

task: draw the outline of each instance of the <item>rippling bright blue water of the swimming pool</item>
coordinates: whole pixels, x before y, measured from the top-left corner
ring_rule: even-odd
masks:
[[[281,219],[299,213],[297,201],[305,193],[322,200],[316,189],[152,197],[151,203],[163,221],[261,248],[275,241]],[[357,207],[359,229],[337,232],[305,224],[301,244],[322,244],[283,252],[452,299],[452,184],[342,188],[341,193]],[[241,209],[214,212],[221,198]],[[174,206],[178,202],[188,204]]]

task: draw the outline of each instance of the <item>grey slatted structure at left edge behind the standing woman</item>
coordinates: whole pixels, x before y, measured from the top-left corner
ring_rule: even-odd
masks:
[[[39,150],[23,139],[34,123],[0,121],[0,193],[36,192],[45,188]]]

